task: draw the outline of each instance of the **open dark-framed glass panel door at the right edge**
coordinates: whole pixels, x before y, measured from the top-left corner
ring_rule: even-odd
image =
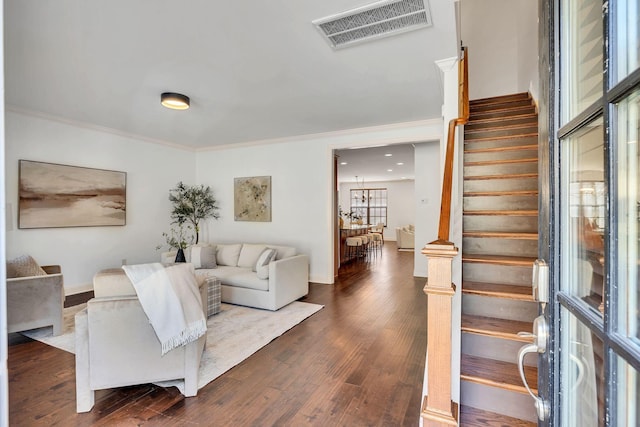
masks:
[[[551,9],[557,91],[542,193],[552,327],[541,371],[551,372],[542,394],[552,405],[542,425],[640,426],[639,4],[555,0]]]

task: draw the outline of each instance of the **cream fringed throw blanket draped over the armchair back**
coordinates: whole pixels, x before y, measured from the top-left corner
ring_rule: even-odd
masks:
[[[191,264],[165,268],[160,263],[123,265],[149,318],[162,354],[207,332],[202,299]]]

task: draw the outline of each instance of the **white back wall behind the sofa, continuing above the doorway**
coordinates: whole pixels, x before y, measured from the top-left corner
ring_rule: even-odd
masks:
[[[203,227],[208,241],[273,242],[295,245],[310,257],[310,280],[333,283],[333,150],[380,144],[438,140],[442,121],[354,129],[269,145],[201,151],[199,183],[217,189],[221,218]],[[438,173],[438,169],[432,171]],[[236,222],[233,178],[271,176],[272,222]],[[416,224],[417,226],[417,224]]]

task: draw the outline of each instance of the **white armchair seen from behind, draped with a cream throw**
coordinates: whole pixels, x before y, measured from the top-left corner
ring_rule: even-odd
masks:
[[[198,392],[206,334],[164,356],[131,281],[122,269],[98,272],[95,298],[76,314],[76,410],[88,412],[95,390],[184,379],[185,396]],[[200,285],[206,312],[207,286]]]

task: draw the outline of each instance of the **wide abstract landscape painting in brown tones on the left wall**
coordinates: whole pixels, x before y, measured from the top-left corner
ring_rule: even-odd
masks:
[[[18,228],[126,224],[127,174],[20,160]]]

